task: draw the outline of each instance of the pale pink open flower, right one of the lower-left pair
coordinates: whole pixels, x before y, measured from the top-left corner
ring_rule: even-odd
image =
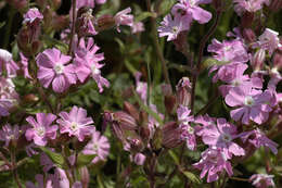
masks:
[[[85,136],[91,135],[93,129],[93,120],[87,117],[87,111],[82,108],[73,106],[69,113],[61,112],[61,117],[56,121],[60,124],[61,134],[68,133],[68,136],[75,136],[79,141],[84,141]]]

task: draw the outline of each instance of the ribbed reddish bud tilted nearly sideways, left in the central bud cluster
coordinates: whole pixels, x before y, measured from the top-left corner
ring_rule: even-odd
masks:
[[[123,111],[115,112],[114,120],[117,121],[120,128],[126,130],[134,130],[138,127],[136,120]]]

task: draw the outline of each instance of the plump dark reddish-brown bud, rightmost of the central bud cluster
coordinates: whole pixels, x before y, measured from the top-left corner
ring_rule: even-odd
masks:
[[[181,130],[176,122],[169,122],[162,128],[163,130],[163,142],[165,148],[176,148],[182,143],[180,139]]]

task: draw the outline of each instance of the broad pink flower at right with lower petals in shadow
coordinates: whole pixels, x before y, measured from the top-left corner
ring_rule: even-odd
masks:
[[[268,120],[271,106],[267,104],[271,100],[269,91],[253,89],[252,87],[236,87],[226,96],[226,103],[238,109],[230,112],[234,121],[242,118],[243,124],[248,124],[249,120],[261,124]]]

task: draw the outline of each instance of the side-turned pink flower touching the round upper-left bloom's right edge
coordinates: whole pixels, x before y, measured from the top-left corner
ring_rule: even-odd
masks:
[[[88,39],[86,45],[85,40],[81,39],[79,48],[76,50],[76,74],[78,79],[84,83],[86,78],[91,75],[95,80],[99,91],[103,91],[103,87],[110,87],[107,79],[101,76],[101,70],[104,64],[99,64],[100,61],[104,60],[103,53],[97,53],[100,48],[94,45],[92,38]]]

